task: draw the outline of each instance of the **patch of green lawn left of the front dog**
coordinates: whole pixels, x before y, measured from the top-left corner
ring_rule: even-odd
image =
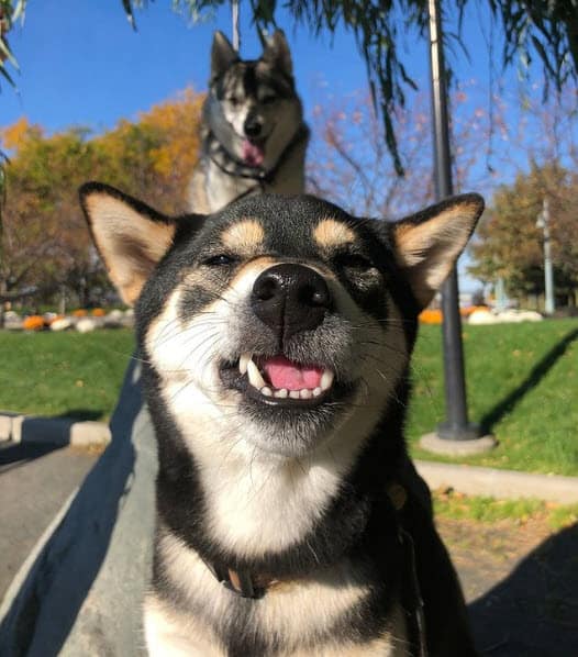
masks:
[[[0,332],[0,409],[107,420],[133,352],[129,330]]]

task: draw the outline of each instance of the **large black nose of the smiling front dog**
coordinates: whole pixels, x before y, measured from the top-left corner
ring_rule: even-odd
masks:
[[[303,265],[275,265],[253,285],[251,303],[255,314],[279,337],[287,339],[319,326],[332,299],[327,283]]]

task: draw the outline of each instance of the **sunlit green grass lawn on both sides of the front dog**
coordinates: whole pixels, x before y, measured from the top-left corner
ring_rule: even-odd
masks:
[[[578,475],[578,320],[465,326],[464,338],[470,419],[500,443],[468,463]],[[0,409],[108,419],[133,344],[127,330],[0,332]],[[444,420],[441,344],[422,326],[408,436],[413,456],[444,460],[416,446]]]

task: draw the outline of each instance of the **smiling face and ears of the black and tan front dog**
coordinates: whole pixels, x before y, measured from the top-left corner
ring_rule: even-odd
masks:
[[[158,393],[191,435],[202,427],[193,448],[274,458],[370,433],[482,209],[468,194],[388,224],[260,196],[169,220],[99,185],[82,204],[113,282],[140,297]]]

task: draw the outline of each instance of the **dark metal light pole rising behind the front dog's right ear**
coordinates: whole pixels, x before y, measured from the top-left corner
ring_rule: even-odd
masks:
[[[440,0],[429,0],[429,12],[435,196],[441,201],[453,193],[453,187]],[[436,433],[441,438],[453,441],[477,438],[478,426],[468,422],[456,268],[442,288],[442,310],[446,421],[437,427]]]

